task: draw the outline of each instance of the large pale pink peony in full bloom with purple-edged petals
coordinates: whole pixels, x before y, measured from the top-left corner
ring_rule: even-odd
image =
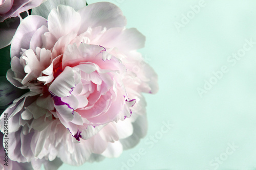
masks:
[[[142,92],[157,92],[157,75],[136,51],[145,37],[125,25],[111,3],[59,5],[48,19],[20,23],[7,79],[29,92],[5,110],[11,160],[81,165],[118,157],[145,136]]]

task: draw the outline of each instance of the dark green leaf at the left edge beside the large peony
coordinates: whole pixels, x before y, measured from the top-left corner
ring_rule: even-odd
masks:
[[[11,68],[10,46],[0,49],[0,76],[6,76],[6,72]]]

